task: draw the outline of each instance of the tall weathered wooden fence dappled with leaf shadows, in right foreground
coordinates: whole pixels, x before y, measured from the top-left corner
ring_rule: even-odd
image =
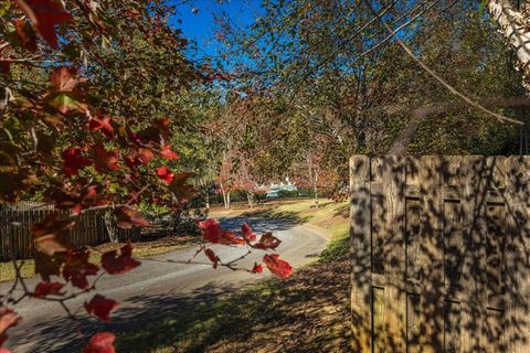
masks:
[[[530,352],[530,158],[350,161],[354,352]]]

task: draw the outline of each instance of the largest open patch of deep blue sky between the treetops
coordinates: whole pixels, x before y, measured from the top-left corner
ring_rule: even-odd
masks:
[[[214,13],[226,13],[231,21],[239,26],[246,26],[259,15],[262,0],[192,0],[186,4],[178,4],[179,14],[171,19],[170,24],[179,28],[183,36],[198,43],[194,58],[205,55],[218,55],[225,51],[213,36]],[[197,9],[197,13],[192,9]],[[180,19],[182,23],[178,23]]]

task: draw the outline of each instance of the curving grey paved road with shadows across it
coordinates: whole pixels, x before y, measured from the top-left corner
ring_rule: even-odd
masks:
[[[271,231],[282,239],[278,247],[282,258],[294,267],[300,266],[318,254],[326,246],[326,237],[318,229],[294,224],[283,220],[259,218],[221,218],[227,228],[237,228],[247,221],[257,233]],[[212,246],[223,261],[237,258],[243,254],[241,248]],[[152,259],[188,260],[195,247],[179,249],[169,254],[155,256]],[[203,257],[201,254],[200,256]],[[252,267],[259,261],[262,252],[255,252],[241,265]],[[202,259],[205,259],[204,257]],[[202,260],[201,259],[201,260]],[[266,270],[265,270],[266,271]],[[264,271],[264,272],[265,272]],[[105,324],[97,319],[84,314],[80,310],[83,329],[91,332],[113,330],[125,331],[135,327],[160,320],[165,317],[189,311],[199,302],[214,300],[223,293],[243,288],[257,279],[271,275],[251,275],[232,271],[226,268],[213,270],[204,265],[177,265],[163,261],[144,260],[134,271],[121,276],[104,276],[98,284],[97,292],[119,300],[121,306],[113,312],[112,323]],[[34,281],[30,281],[34,282]],[[0,285],[4,291],[7,284]],[[68,301],[72,310],[81,308],[89,296]],[[64,317],[59,304],[38,299],[23,301],[17,310],[24,318],[17,328],[11,329],[8,346],[19,352],[80,352],[81,341],[72,330],[72,322]]]

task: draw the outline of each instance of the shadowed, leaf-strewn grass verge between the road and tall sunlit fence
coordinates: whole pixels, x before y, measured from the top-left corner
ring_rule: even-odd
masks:
[[[253,216],[290,217],[322,227],[331,240],[320,258],[286,279],[202,303],[187,314],[118,335],[119,352],[347,351],[349,335],[348,204],[275,204]]]

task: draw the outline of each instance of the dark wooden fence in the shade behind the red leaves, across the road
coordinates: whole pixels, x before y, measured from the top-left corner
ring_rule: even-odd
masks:
[[[31,258],[33,256],[31,226],[44,220],[53,211],[53,207],[46,205],[17,205],[1,210],[0,261],[11,259],[11,248],[15,258]],[[121,229],[115,227],[115,236],[119,240],[136,239],[139,234],[139,228]],[[105,226],[104,212],[92,211],[82,214],[81,220],[71,232],[71,240],[74,246],[97,245],[108,242],[109,236]]]

